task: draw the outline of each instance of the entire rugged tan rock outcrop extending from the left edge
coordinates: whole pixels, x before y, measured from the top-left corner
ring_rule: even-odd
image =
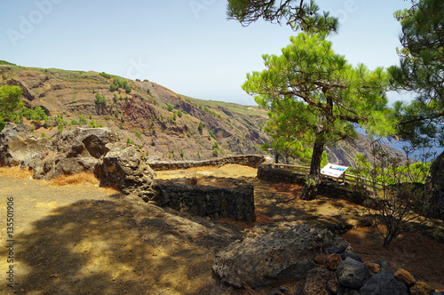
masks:
[[[76,128],[48,140],[24,124],[7,124],[0,132],[0,166],[28,167],[35,179],[90,171],[104,186],[151,198],[155,171],[137,148],[117,141],[107,128]]]

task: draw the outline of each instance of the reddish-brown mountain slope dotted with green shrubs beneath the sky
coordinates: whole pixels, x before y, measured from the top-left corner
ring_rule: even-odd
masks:
[[[0,65],[2,84],[20,86],[25,106],[41,107],[50,117],[47,126],[27,122],[35,125],[38,135],[51,137],[75,125],[103,125],[163,160],[261,154],[258,146],[269,140],[262,130],[268,118],[263,109],[197,100],[147,80],[5,64]],[[330,162],[353,165],[358,152],[369,155],[369,139],[361,137],[354,146],[339,143],[327,152]]]

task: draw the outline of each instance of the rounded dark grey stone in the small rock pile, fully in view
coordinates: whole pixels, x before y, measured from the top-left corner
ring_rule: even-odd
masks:
[[[347,257],[337,267],[337,279],[343,286],[355,290],[360,289],[371,277],[362,262]]]

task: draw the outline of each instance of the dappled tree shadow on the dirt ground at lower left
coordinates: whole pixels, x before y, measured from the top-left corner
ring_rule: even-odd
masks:
[[[114,197],[59,207],[17,235],[16,290],[194,294],[214,285],[214,252],[232,242],[235,230]]]

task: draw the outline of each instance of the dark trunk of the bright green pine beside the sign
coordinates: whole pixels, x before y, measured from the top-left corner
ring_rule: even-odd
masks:
[[[316,194],[316,186],[321,183],[321,161],[325,142],[323,136],[318,136],[314,141],[310,174],[300,195],[302,200],[312,200]]]

